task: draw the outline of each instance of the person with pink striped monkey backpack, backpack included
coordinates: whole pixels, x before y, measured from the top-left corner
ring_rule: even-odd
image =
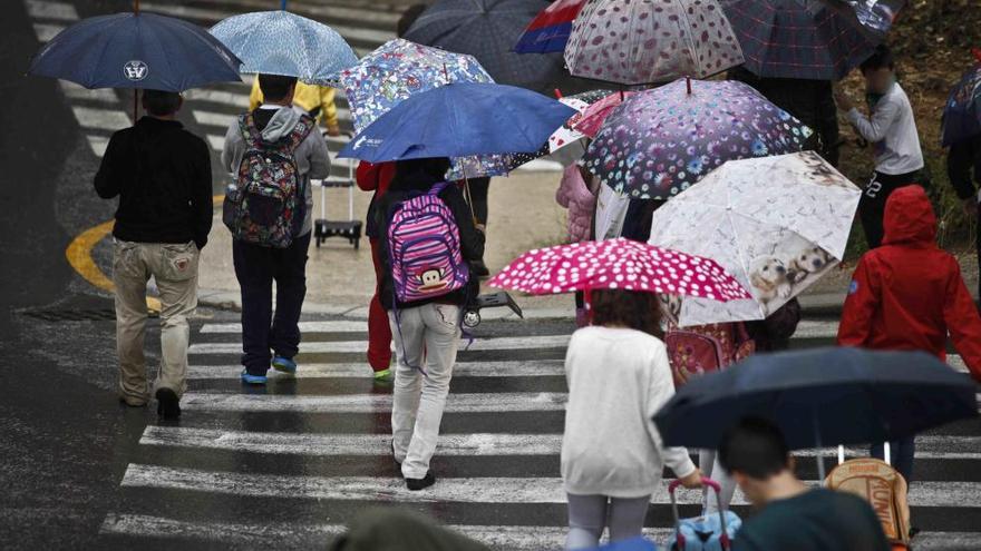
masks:
[[[468,263],[484,255],[484,234],[459,188],[445,181],[449,159],[400,160],[376,207],[381,305],[395,338],[392,454],[409,490],[433,485],[429,461],[470,293]]]

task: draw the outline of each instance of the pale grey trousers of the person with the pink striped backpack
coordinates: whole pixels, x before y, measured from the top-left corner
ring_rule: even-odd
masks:
[[[426,476],[436,452],[459,346],[459,306],[435,303],[401,309],[398,319],[394,312],[388,314],[398,360],[391,405],[392,447],[407,479]]]

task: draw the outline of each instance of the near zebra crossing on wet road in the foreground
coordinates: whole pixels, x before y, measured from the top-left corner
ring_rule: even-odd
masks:
[[[492,322],[468,350],[462,342],[433,460],[437,484],[424,492],[406,490],[391,463],[391,392],[372,384],[362,360],[365,322],[304,321],[301,328],[299,376],[271,372],[265,388],[239,382],[237,323],[220,318],[196,328],[184,416],[179,425],[143,432],[100,544],[323,547],[359,512],[398,504],[493,549],[561,548],[571,324]],[[805,321],[794,346],[829,344],[836,331],[833,321]],[[916,549],[981,548],[981,422],[952,424],[917,442],[910,503],[924,532]],[[798,453],[803,480],[816,483],[818,454],[831,465],[836,451]],[[699,493],[679,498],[682,514],[697,513]],[[663,542],[671,525],[663,484],[651,501],[648,535]],[[738,492],[734,509],[749,513]]]

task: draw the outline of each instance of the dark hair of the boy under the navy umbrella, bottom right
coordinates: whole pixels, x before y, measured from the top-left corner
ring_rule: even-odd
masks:
[[[780,430],[760,417],[745,417],[722,435],[722,469],[756,480],[767,480],[789,466],[790,453]]]

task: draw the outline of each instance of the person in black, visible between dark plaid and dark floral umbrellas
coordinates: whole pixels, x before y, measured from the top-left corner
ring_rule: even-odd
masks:
[[[729,71],[729,79],[746,82],[770,102],[807,125],[814,130],[808,149],[817,151],[832,166],[838,166],[838,115],[829,80],[761,78],[742,67]]]

